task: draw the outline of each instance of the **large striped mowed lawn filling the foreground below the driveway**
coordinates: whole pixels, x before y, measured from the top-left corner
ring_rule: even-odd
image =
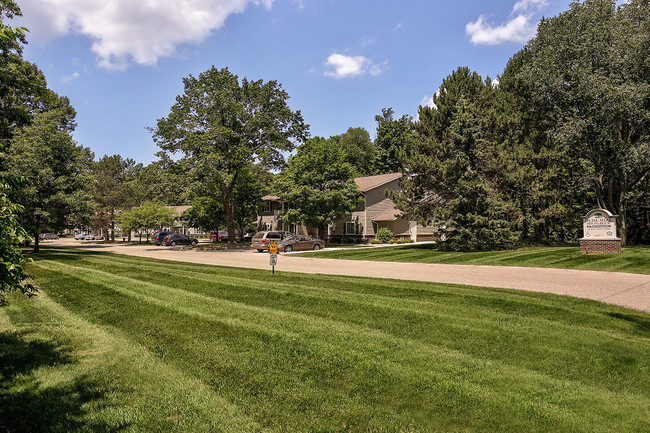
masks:
[[[71,250],[30,272],[0,431],[650,431],[648,314]]]

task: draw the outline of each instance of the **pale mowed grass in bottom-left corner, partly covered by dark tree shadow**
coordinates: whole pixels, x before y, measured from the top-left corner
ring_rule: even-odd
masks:
[[[17,415],[0,416],[7,431],[260,430],[193,375],[47,293],[30,301],[14,297],[0,310],[0,335],[2,347],[34,368],[14,377],[3,369],[0,413]],[[39,348],[37,361],[45,359],[34,362],[31,347]],[[5,361],[7,353],[0,350]]]

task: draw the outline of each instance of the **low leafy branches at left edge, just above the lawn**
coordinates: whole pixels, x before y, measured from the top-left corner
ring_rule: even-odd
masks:
[[[24,180],[0,178],[0,305],[9,292],[20,292],[27,296],[36,294],[36,288],[27,280],[25,265],[28,260],[18,245],[29,239],[25,229],[18,222],[22,207],[9,199],[8,193],[19,187]],[[29,260],[31,261],[31,260]]]

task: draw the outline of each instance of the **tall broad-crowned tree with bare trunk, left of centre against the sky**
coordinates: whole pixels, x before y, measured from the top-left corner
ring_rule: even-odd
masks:
[[[152,129],[163,152],[179,152],[179,161],[201,188],[200,196],[221,201],[230,241],[234,241],[234,196],[238,179],[257,162],[282,168],[284,154],[308,135],[299,111],[276,81],[249,81],[214,66],[183,79],[185,91],[168,117]]]

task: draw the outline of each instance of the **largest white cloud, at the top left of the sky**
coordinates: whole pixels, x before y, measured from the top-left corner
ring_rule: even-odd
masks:
[[[46,41],[68,33],[89,36],[97,62],[125,69],[130,62],[154,65],[182,44],[200,43],[228,16],[249,4],[273,0],[22,0],[30,36]]]

